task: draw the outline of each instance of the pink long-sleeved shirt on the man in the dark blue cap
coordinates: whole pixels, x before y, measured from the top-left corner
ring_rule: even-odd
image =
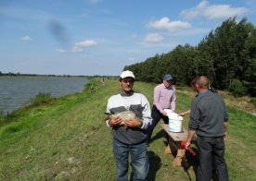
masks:
[[[166,88],[163,83],[156,86],[154,89],[154,105],[157,106],[160,113],[162,113],[163,109],[172,109],[175,111],[175,89],[173,85],[169,88]]]

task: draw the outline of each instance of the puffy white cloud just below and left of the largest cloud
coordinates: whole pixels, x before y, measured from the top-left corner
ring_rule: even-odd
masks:
[[[169,18],[164,17],[160,18],[160,20],[157,21],[150,21],[147,26],[152,29],[158,29],[158,30],[168,30],[168,31],[175,31],[179,29],[188,29],[191,27],[191,24],[185,21],[170,21]]]

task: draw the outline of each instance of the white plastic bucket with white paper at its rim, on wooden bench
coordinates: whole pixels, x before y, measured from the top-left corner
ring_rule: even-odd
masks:
[[[165,112],[169,118],[169,130],[172,132],[182,132],[182,120],[183,117],[173,113],[170,109],[165,109]]]

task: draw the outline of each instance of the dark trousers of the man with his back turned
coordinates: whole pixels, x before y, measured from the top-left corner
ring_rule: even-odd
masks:
[[[211,181],[213,169],[217,180],[228,180],[227,167],[224,161],[224,137],[198,136],[198,156],[198,181]]]

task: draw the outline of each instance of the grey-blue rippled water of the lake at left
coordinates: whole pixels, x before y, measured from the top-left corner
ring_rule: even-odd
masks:
[[[39,92],[59,97],[83,90],[86,78],[0,77],[0,111],[19,108]]]

